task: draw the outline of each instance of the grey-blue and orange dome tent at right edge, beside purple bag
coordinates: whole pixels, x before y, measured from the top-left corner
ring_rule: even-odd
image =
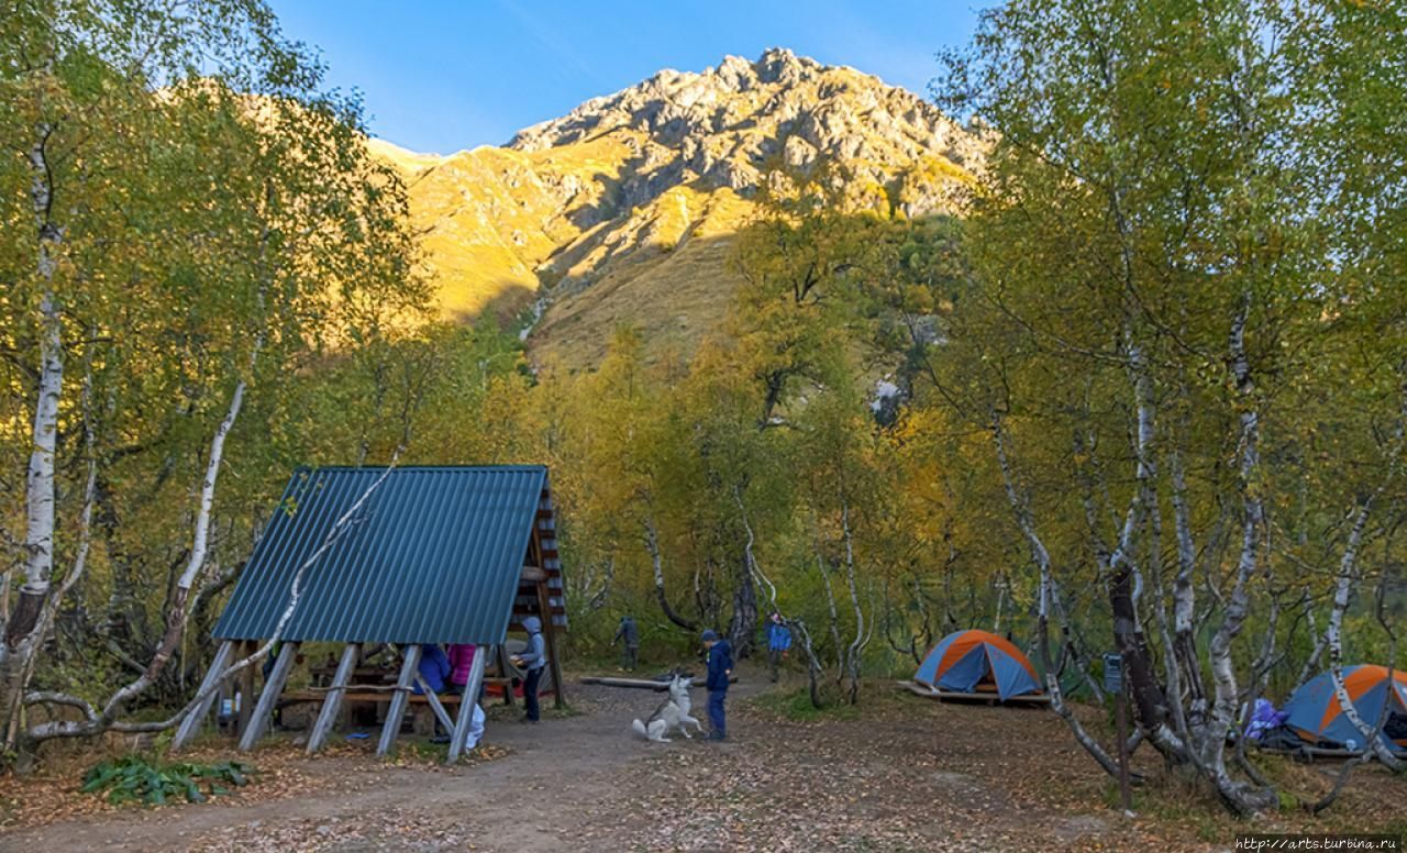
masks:
[[[1407,673],[1403,670],[1394,670],[1389,684],[1386,666],[1344,667],[1344,690],[1348,691],[1348,700],[1354,702],[1359,719],[1369,726],[1377,725],[1383,702],[1392,702],[1389,714],[1407,714]],[[1344,708],[1338,704],[1334,677],[1330,673],[1321,673],[1306,681],[1290,694],[1282,711],[1289,714],[1285,724],[1310,743],[1328,740],[1346,746],[1352,740],[1355,746],[1362,745],[1363,735],[1348,721],[1348,714],[1344,714]],[[1407,739],[1393,742],[1386,735],[1382,738],[1392,749],[1407,749]]]

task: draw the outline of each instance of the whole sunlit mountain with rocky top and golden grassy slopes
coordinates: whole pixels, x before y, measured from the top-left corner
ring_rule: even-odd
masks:
[[[622,322],[656,349],[688,349],[716,322],[732,234],[771,173],[819,175],[848,208],[917,217],[954,207],[985,146],[910,91],[771,49],[663,70],[505,148],[393,148],[445,311],[543,297],[535,358],[590,366]]]

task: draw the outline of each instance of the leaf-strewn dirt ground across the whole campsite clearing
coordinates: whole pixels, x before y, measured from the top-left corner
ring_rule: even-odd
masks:
[[[1147,749],[1137,764],[1155,781],[1130,819],[1048,711],[946,705],[875,683],[861,709],[812,715],[798,685],[744,671],[723,745],[644,743],[630,721],[658,695],[573,685],[575,712],[537,726],[492,711],[491,746],[454,769],[407,736],[391,763],[370,742],[315,760],[274,742],[252,756],[255,784],[207,805],[104,807],[76,792],[76,767],[4,780],[0,850],[1224,850],[1237,832],[1407,828],[1407,780],[1377,767],[1323,818],[1245,823],[1158,777]],[[702,691],[695,701],[705,716]],[[1086,716],[1103,725],[1096,709]],[[1268,763],[1314,795],[1334,767]]]

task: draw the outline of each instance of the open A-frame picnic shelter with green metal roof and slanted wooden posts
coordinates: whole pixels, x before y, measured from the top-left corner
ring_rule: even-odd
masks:
[[[366,503],[335,532],[338,519],[363,495]],[[381,728],[380,754],[394,745],[401,728],[416,683],[421,643],[478,646],[464,690],[473,697],[483,684],[485,659],[497,656],[499,669],[507,669],[502,646],[509,626],[521,628],[528,617],[539,617],[552,684],[561,702],[556,645],[557,632],[567,625],[566,590],[545,466],[298,469],[215,625],[212,633],[221,643],[201,684],[208,695],[182,721],[173,749],[189,743],[210,714],[215,700],[210,688],[239,657],[238,650],[274,636],[295,580],[298,604],[253,709],[248,701],[253,670],[241,674],[241,749],[252,749],[263,733],[297,647],[305,642],[345,643],[308,738],[310,753],[326,740],[367,643],[394,643],[405,650]],[[435,697],[426,698],[447,719]],[[459,757],[473,707],[460,704],[450,760]]]

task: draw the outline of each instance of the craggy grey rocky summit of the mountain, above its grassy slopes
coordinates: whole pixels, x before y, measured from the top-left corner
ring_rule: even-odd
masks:
[[[746,196],[771,170],[809,175],[825,162],[857,207],[919,215],[947,203],[944,179],[981,159],[971,134],[913,93],[785,48],[757,61],[726,56],[698,73],[661,70],[521,131],[509,148],[539,152],[601,137],[635,155],[618,210],[681,183]],[[905,177],[915,165],[923,175]]]

